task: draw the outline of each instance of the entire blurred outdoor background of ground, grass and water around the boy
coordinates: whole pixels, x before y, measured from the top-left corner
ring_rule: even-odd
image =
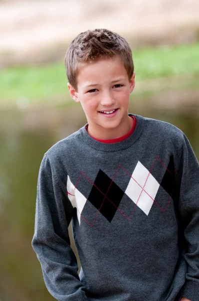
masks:
[[[107,28],[131,48],[129,112],[170,122],[199,158],[197,0],[0,0],[0,301],[53,300],[31,248],[41,159],[86,123],[67,92],[71,40]]]

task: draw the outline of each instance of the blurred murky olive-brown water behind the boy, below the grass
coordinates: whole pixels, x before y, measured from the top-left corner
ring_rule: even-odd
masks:
[[[199,158],[199,116],[178,111],[150,105],[129,109],[179,127]],[[38,169],[52,144],[85,123],[76,105],[0,111],[0,301],[54,300],[31,248]]]

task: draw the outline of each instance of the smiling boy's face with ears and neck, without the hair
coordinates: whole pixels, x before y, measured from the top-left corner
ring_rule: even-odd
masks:
[[[127,133],[132,125],[128,116],[129,94],[134,74],[128,79],[118,56],[82,63],[77,73],[77,91],[68,84],[70,96],[80,102],[95,138],[111,139]]]

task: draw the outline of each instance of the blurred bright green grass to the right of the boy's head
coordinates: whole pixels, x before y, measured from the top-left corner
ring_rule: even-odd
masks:
[[[199,74],[199,43],[148,48],[133,53],[137,80],[182,74]]]

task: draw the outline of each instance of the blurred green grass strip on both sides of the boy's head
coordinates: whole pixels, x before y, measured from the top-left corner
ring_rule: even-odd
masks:
[[[136,80],[199,74],[199,43],[133,52]],[[13,67],[0,71],[0,102],[48,101],[68,98],[63,62],[45,66]]]

